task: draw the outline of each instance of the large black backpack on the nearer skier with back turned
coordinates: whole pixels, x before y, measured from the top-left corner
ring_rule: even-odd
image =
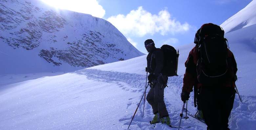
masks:
[[[198,32],[199,58],[196,66],[199,83],[215,85],[232,79],[224,30],[215,24],[204,24]]]

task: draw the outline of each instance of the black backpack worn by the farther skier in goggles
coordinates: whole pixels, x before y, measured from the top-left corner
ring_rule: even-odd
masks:
[[[160,48],[164,54],[164,64],[162,69],[162,74],[168,77],[178,76],[178,58],[179,58],[179,50],[178,54],[174,47],[170,45],[162,45]]]

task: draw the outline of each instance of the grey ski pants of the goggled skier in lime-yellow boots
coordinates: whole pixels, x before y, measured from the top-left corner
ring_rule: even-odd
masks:
[[[147,95],[147,101],[152,106],[153,113],[156,114],[159,112],[160,118],[169,116],[163,100],[164,88],[162,84],[156,82],[154,86],[150,88]]]

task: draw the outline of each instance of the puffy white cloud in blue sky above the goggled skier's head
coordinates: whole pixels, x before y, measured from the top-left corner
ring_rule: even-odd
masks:
[[[117,16],[111,16],[107,20],[123,34],[140,37],[146,34],[154,35],[155,33],[160,33],[161,35],[182,33],[190,28],[188,23],[181,24],[179,21],[171,18],[167,10],[161,10],[156,15],[151,14],[142,7],[130,11],[126,16],[118,14]]]

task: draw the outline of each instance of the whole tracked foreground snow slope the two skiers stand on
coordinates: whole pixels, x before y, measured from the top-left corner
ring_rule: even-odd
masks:
[[[243,103],[236,95],[230,116],[232,130],[252,130],[256,127],[255,89],[255,30],[256,25],[225,34],[238,63],[238,89]],[[242,38],[243,37],[243,38]],[[178,125],[182,102],[180,99],[184,61],[194,46],[180,47],[179,75],[169,78],[165,102],[171,124]],[[0,88],[0,127],[3,129],[127,129],[145,89],[146,55],[98,65],[59,76],[42,77],[2,86]],[[245,85],[244,85],[245,84]],[[149,88],[147,89],[147,92]],[[196,112],[193,93],[188,110]],[[143,104],[143,101],[142,101]],[[157,124],[149,125],[153,117],[150,105],[139,107],[132,130],[175,129]],[[193,119],[182,120],[189,130],[206,126]]]

